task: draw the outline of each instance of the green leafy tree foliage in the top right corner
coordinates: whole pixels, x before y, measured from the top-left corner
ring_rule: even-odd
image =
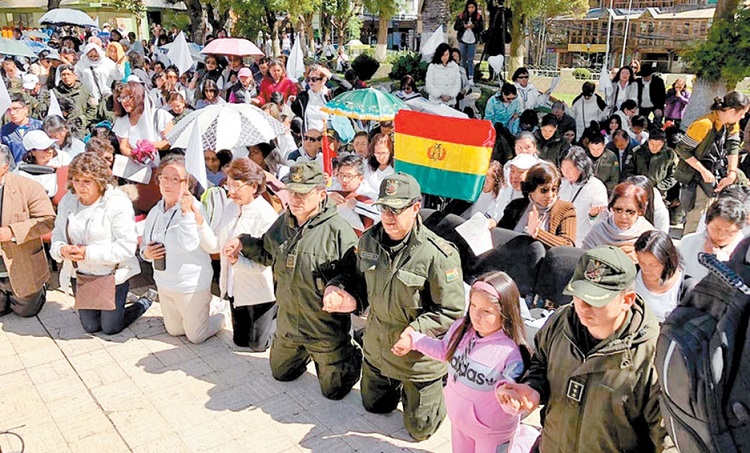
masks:
[[[734,85],[750,76],[750,8],[714,21],[705,42],[685,53],[689,69],[710,82]]]

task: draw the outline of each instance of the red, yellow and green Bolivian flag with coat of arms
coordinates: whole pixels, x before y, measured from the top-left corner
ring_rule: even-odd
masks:
[[[422,193],[477,199],[495,144],[491,122],[399,110],[394,128],[396,171],[414,176]]]

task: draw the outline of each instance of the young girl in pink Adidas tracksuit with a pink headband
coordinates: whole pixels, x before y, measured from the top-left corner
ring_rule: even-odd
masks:
[[[454,452],[528,452],[536,440],[538,432],[495,398],[496,387],[524,371],[519,298],[506,273],[486,274],[471,286],[467,315],[442,340],[411,332],[394,346],[397,355],[413,349],[450,364],[444,392]]]

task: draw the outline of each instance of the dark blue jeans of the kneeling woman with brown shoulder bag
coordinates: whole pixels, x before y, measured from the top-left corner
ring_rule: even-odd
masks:
[[[73,295],[75,296],[76,281],[71,281],[73,285]],[[78,310],[78,316],[81,318],[83,330],[88,333],[101,331],[106,335],[114,335],[122,332],[148,310],[141,301],[125,307],[125,301],[128,297],[130,281],[126,281],[115,286],[115,309],[114,310]]]

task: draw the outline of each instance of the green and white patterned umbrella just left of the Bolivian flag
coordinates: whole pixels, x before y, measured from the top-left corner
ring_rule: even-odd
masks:
[[[396,96],[374,88],[347,91],[321,108],[331,115],[371,121],[390,121],[401,109],[409,107]]]

